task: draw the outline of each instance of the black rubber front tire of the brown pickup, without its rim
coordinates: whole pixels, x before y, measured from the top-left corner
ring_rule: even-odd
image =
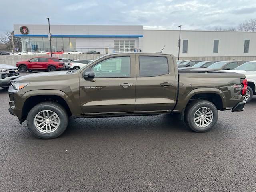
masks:
[[[42,110],[51,110],[56,113],[60,118],[59,127],[52,133],[42,133],[34,125],[34,118]],[[56,102],[42,102],[34,106],[27,116],[27,126],[32,134],[41,139],[53,139],[60,136],[68,126],[68,114],[64,107]]]

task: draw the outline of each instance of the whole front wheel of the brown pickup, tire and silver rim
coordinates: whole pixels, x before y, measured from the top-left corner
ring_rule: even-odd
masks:
[[[56,138],[66,130],[68,114],[56,102],[42,102],[34,106],[28,113],[27,125],[32,134],[38,138]]]

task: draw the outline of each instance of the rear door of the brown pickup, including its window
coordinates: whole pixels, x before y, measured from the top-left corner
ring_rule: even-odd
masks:
[[[172,110],[178,79],[172,57],[136,54],[136,69],[136,111]]]

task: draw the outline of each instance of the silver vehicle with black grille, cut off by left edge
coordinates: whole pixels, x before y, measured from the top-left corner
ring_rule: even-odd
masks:
[[[20,70],[16,66],[0,64],[0,87],[9,88],[12,80],[20,77]]]

